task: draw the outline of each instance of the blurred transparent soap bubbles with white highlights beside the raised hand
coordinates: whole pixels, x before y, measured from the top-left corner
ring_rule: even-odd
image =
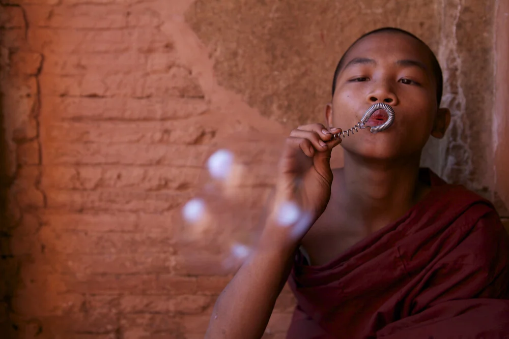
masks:
[[[224,143],[211,147],[199,189],[182,205],[178,250],[210,256],[225,270],[234,270],[249,256],[263,228],[282,139],[251,133]],[[279,218],[282,225],[295,222],[298,207],[289,203]]]

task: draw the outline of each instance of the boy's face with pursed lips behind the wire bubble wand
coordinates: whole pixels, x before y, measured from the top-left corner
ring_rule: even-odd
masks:
[[[394,109],[392,126],[380,133],[360,130],[345,137],[347,152],[374,159],[420,156],[437,116],[436,80],[430,51],[418,40],[382,32],[357,42],[345,58],[326,116],[344,131],[377,102]]]

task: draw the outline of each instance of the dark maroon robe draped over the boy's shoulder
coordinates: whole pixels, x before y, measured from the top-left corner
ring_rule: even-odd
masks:
[[[339,258],[297,254],[288,338],[509,338],[509,236],[488,201],[430,177],[425,199]]]

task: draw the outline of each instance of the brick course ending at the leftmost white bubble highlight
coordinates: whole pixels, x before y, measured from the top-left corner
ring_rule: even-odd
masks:
[[[32,193],[32,192],[30,192]],[[145,211],[172,210],[191,197],[191,192],[142,190],[45,191],[48,208],[67,211]]]

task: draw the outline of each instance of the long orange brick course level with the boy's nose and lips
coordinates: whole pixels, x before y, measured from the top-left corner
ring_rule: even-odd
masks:
[[[168,120],[204,114],[202,99],[45,98],[41,116],[92,120]]]

